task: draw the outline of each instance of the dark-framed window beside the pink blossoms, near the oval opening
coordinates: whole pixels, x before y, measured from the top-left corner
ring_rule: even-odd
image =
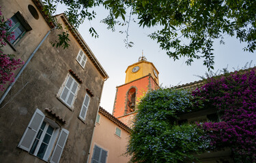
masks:
[[[14,33],[13,35],[15,36],[15,39],[10,40],[10,43],[15,45],[21,39],[21,37],[25,35],[27,31],[31,30],[31,26],[29,26],[29,24],[23,18],[20,12],[17,12],[16,14],[14,14],[14,16],[10,18],[10,20],[12,20],[12,26],[10,26],[9,31],[13,32]]]

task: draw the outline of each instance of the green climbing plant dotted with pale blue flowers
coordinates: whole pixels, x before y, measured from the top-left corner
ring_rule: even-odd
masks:
[[[177,113],[193,109],[193,96],[186,90],[154,90],[138,105],[130,136],[131,162],[184,162],[208,147],[203,131],[195,125],[176,125]]]

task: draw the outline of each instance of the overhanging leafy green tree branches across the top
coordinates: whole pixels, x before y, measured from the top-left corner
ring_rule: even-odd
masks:
[[[213,69],[213,42],[223,41],[225,35],[236,36],[247,43],[245,51],[256,49],[256,1],[251,0],[46,0],[45,10],[53,14],[57,4],[65,4],[66,14],[74,26],[96,16],[94,7],[103,5],[109,15],[102,20],[108,29],[126,24],[136,16],[141,27],[158,26],[149,37],[174,60],[186,57],[190,65],[194,59],[204,58],[203,65]],[[91,27],[94,37],[98,34]],[[128,30],[126,31],[128,35]],[[182,41],[182,38],[184,41]],[[131,46],[132,42],[126,43]]]

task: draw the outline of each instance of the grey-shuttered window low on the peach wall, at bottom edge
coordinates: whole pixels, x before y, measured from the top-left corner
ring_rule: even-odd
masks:
[[[106,163],[107,153],[107,151],[95,145],[91,163]]]

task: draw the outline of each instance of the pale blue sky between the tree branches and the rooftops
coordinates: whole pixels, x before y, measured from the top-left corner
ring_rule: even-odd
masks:
[[[173,61],[164,51],[160,50],[156,41],[147,37],[150,30],[139,28],[135,23],[131,24],[129,29],[129,39],[134,42],[134,46],[125,48],[126,35],[119,33],[119,29],[115,33],[107,30],[106,25],[100,23],[100,19],[106,16],[106,12],[102,8],[96,11],[98,13],[96,20],[91,22],[86,20],[79,27],[79,33],[109,75],[109,79],[104,84],[100,106],[110,113],[113,111],[116,86],[124,84],[127,67],[138,61],[142,50],[147,61],[153,62],[158,69],[159,82],[162,86],[177,86],[177,84],[194,82],[200,79],[195,75],[204,75],[207,71],[207,68],[203,66],[203,60],[195,60],[191,66],[185,64],[184,58]],[[98,39],[89,35],[88,30],[91,26],[100,35]],[[220,45],[219,41],[214,43],[214,69],[223,69],[228,65],[229,71],[233,71],[232,67],[241,68],[251,60],[255,65],[255,53],[244,52],[242,50],[244,45],[246,44],[240,44],[238,39],[229,36],[225,37],[225,45]]]

